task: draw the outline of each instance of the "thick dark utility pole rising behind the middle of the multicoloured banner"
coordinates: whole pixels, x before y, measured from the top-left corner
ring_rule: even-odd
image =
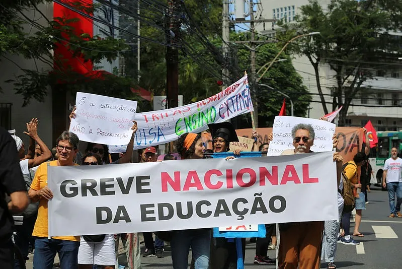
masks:
[[[178,106],[179,95],[179,50],[177,40],[179,35],[180,21],[178,14],[180,0],[168,1],[168,29],[166,47],[166,101],[168,108]],[[173,46],[172,46],[173,45]]]

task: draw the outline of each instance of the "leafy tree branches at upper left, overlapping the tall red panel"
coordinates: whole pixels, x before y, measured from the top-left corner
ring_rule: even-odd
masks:
[[[52,2],[52,1],[48,1]],[[54,18],[49,20],[38,8],[46,3],[44,0],[6,1],[0,9],[0,57],[13,63],[9,55],[21,55],[26,59],[43,62],[49,66],[49,71],[22,69],[23,75],[10,79],[17,94],[24,98],[24,106],[31,99],[40,102],[47,95],[49,86],[61,92],[87,91],[109,96],[136,99],[130,91],[134,81],[128,78],[116,77],[111,74],[79,74],[74,70],[65,68],[60,55],[53,55],[58,46],[65,46],[72,57],[77,57],[83,62],[99,63],[102,59],[109,62],[118,56],[120,51],[128,48],[124,40],[118,38],[100,39],[98,36],[90,36],[88,33],[77,34],[74,23],[77,19]],[[84,5],[81,2],[71,3],[70,8],[77,13],[92,16],[97,7]],[[39,12],[47,20],[47,25],[40,25],[30,19],[26,14],[29,10]],[[34,30],[27,33],[24,25],[30,25]],[[15,63],[17,64],[17,63]]]

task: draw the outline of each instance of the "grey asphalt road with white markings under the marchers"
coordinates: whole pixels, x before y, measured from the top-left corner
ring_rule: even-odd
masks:
[[[364,237],[357,238],[361,242],[358,246],[347,246],[338,244],[338,251],[335,263],[338,268],[348,269],[378,269],[378,268],[400,268],[399,257],[401,249],[401,241],[398,239],[402,236],[402,218],[389,219],[388,194],[379,188],[372,187],[368,193],[369,204],[363,211],[360,232]],[[353,232],[354,222],[351,223],[351,231]],[[142,235],[140,236],[140,241]],[[247,241],[246,246],[246,269],[275,268],[275,265],[256,265],[253,263],[255,255],[255,243]],[[141,251],[144,251],[144,245],[141,243]],[[122,251],[122,249],[121,249]],[[275,257],[276,250],[269,250],[268,255]],[[189,257],[189,262],[191,255]],[[32,255],[30,255],[32,260]],[[165,247],[165,257],[141,257],[141,265],[147,269],[167,269],[172,268],[172,259],[170,247]],[[325,262],[321,263],[321,268],[326,268]],[[32,268],[32,263],[27,263],[27,268]],[[117,269],[117,268],[116,268]]]

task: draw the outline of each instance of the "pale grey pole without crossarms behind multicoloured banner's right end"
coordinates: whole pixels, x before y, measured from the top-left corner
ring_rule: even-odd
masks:
[[[222,66],[222,88],[225,89],[230,85],[229,70],[227,69],[228,58],[229,58],[229,39],[230,39],[230,20],[229,20],[229,0],[223,0],[222,9],[222,54],[224,58],[224,63]]]

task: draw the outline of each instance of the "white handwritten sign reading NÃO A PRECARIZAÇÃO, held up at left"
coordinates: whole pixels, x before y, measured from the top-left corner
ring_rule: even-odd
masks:
[[[136,101],[78,92],[75,105],[69,130],[79,140],[106,145],[130,142]]]

